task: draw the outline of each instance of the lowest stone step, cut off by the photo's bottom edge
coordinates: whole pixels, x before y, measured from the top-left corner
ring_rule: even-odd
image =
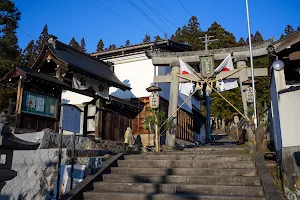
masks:
[[[194,194],[144,194],[144,193],[100,193],[85,192],[85,200],[266,200],[261,197],[207,196]]]

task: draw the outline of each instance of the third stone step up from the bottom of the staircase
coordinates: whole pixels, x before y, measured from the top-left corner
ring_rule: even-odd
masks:
[[[257,176],[155,176],[155,175],[123,175],[104,174],[105,182],[116,183],[182,183],[200,185],[256,185],[260,186],[260,178]]]

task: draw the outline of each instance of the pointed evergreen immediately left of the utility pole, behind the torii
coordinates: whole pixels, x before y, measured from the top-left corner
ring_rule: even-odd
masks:
[[[188,43],[192,46],[192,50],[204,49],[204,45],[199,39],[204,33],[200,29],[200,23],[197,17],[192,16],[188,25],[184,25],[182,28],[178,28],[175,32],[175,36],[171,37],[176,42]]]

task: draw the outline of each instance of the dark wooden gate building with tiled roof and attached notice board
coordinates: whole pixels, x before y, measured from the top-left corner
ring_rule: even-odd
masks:
[[[79,80],[82,84],[79,87],[83,89],[74,87],[75,74],[85,77],[84,80]],[[63,90],[95,98],[95,137],[102,134],[104,118],[99,112],[101,109],[105,108],[107,112],[122,110],[118,113],[126,114],[128,118],[134,117],[134,114],[140,111],[131,103],[108,98],[108,92],[105,94],[106,87],[111,86],[121,90],[131,89],[116,77],[110,64],[59,42],[55,37],[50,38],[44,45],[30,69],[16,66],[1,79],[1,82],[18,91],[16,133],[35,132],[44,128],[58,131]],[[91,87],[84,88],[89,82]]]

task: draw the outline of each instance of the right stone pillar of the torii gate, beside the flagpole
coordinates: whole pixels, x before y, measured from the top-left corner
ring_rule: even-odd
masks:
[[[246,56],[238,56],[234,59],[234,62],[236,62],[238,69],[241,67],[247,66],[246,61],[247,61]],[[238,73],[239,73],[239,83],[240,83],[240,88],[241,88],[244,115],[247,117],[248,116],[248,113],[247,113],[248,105],[247,105],[247,98],[246,98],[246,89],[248,86],[243,85],[243,82],[248,80],[247,68],[241,69]]]

